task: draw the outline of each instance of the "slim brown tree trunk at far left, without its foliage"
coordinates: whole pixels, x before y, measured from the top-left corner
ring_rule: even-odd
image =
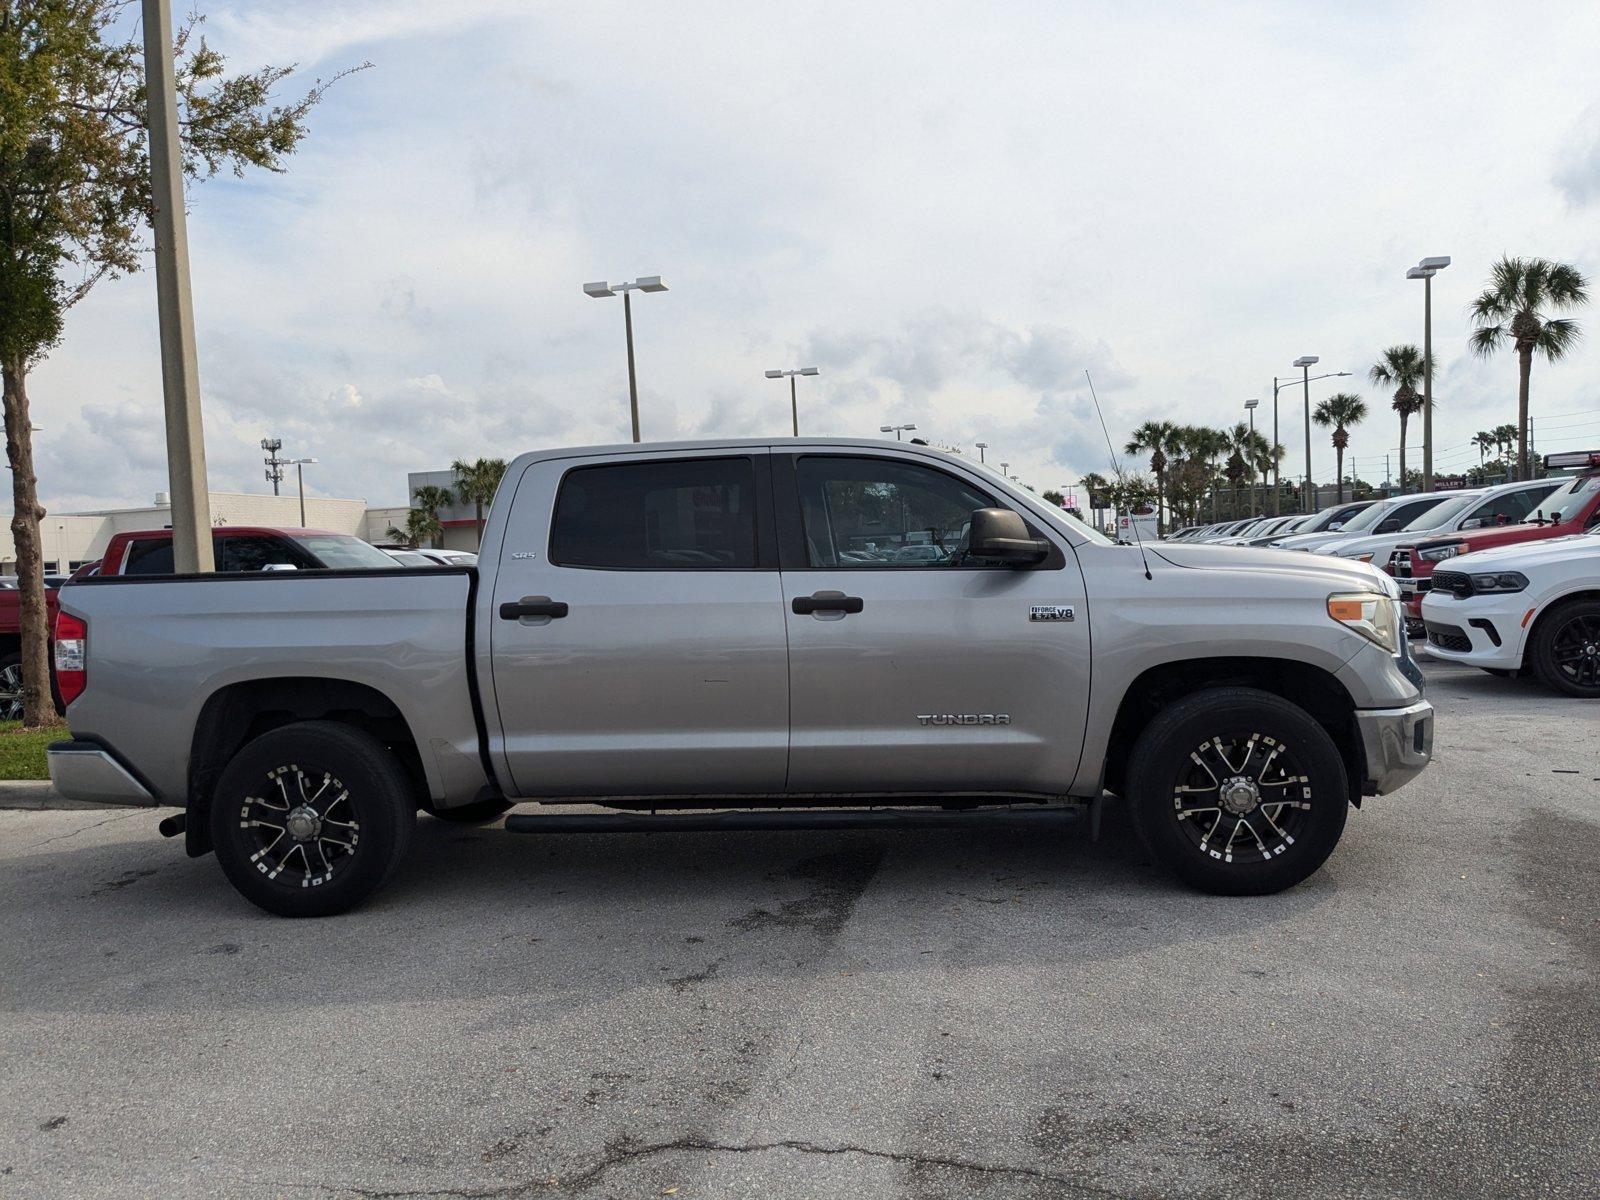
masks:
[[[50,611],[45,606],[45,562],[38,522],[38,480],[34,478],[34,432],[27,414],[27,363],[0,363],[5,382],[5,453],[11,464],[11,539],[16,542],[18,616],[22,622],[22,725],[56,722],[50,694]]]

